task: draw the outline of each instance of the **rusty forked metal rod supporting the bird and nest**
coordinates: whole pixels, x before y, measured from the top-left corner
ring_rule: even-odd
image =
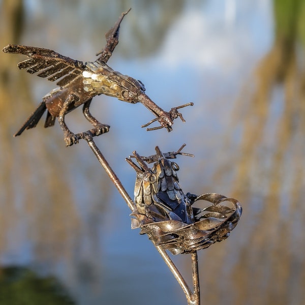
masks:
[[[100,149],[97,147],[96,143],[94,142],[92,135],[87,134],[84,137],[81,137],[85,139],[89,145],[89,147],[92,149],[94,154],[96,155],[97,159],[99,160],[100,164],[105,169],[106,173],[110,177],[111,181],[113,182],[114,186],[120,193],[120,195],[123,197],[123,199],[126,201],[128,207],[133,210],[134,208],[134,202],[131,199],[131,197],[128,195],[127,191],[121,184],[121,181],[116,176],[112,168],[110,167],[109,163],[105,159],[105,157],[102,155]],[[200,294],[199,294],[199,272],[198,272],[198,258],[197,258],[197,251],[193,252],[192,255],[192,279],[193,279],[193,287],[194,287],[194,293],[191,292],[187,282],[182,277],[181,273],[177,269],[174,262],[171,260],[169,255],[166,253],[165,250],[163,250],[161,247],[156,246],[158,252],[162,256],[163,260],[165,261],[168,268],[173,273],[175,279],[181,286],[182,290],[184,291],[186,298],[188,300],[188,305],[200,305]]]

